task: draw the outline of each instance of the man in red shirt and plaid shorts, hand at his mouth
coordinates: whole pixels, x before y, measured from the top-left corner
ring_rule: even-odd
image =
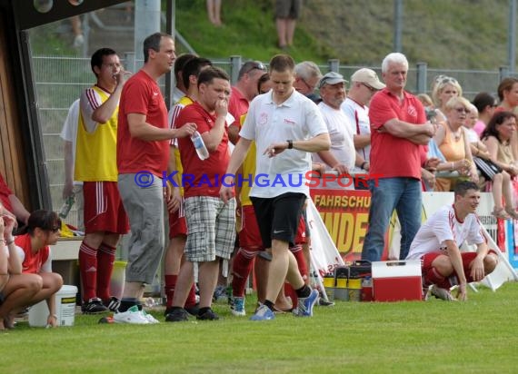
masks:
[[[187,320],[183,306],[193,281],[194,262],[198,264],[200,287],[200,310],[196,318],[219,319],[211,309],[219,261],[230,259],[235,240],[235,199],[225,203],[219,197],[221,177],[230,159],[225,131],[229,95],[228,74],[213,66],[206,67],[198,75],[198,101],[186,106],[177,119],[180,129],[190,123],[196,124],[209,158],[201,160],[191,140],[178,140],[184,166],[187,241],[185,262],[174,290],[173,307],[167,315],[171,322]]]

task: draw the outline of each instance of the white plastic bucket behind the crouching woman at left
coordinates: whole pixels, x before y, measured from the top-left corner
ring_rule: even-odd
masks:
[[[58,326],[74,326],[77,287],[64,285],[55,293],[55,314]],[[45,327],[48,318],[46,300],[29,309],[29,326]]]

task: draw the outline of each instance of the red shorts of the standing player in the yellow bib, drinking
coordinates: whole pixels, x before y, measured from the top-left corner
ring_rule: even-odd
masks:
[[[85,232],[129,231],[129,221],[119,195],[117,182],[84,182]]]

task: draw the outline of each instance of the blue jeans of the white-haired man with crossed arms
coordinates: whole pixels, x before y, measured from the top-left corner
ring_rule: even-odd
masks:
[[[374,183],[378,185],[375,186]],[[381,178],[369,181],[371,208],[362,260],[380,261],[384,236],[393,210],[401,223],[400,260],[404,260],[421,226],[421,182],[414,178]]]

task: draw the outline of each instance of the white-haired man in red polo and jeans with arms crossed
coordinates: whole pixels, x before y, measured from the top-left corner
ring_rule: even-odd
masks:
[[[421,225],[421,147],[428,144],[436,127],[426,122],[423,104],[404,91],[407,72],[403,54],[388,54],[382,64],[386,87],[374,94],[369,109],[369,172],[381,177],[369,181],[372,199],[363,260],[381,260],[394,209],[402,228],[400,259],[406,258]]]

